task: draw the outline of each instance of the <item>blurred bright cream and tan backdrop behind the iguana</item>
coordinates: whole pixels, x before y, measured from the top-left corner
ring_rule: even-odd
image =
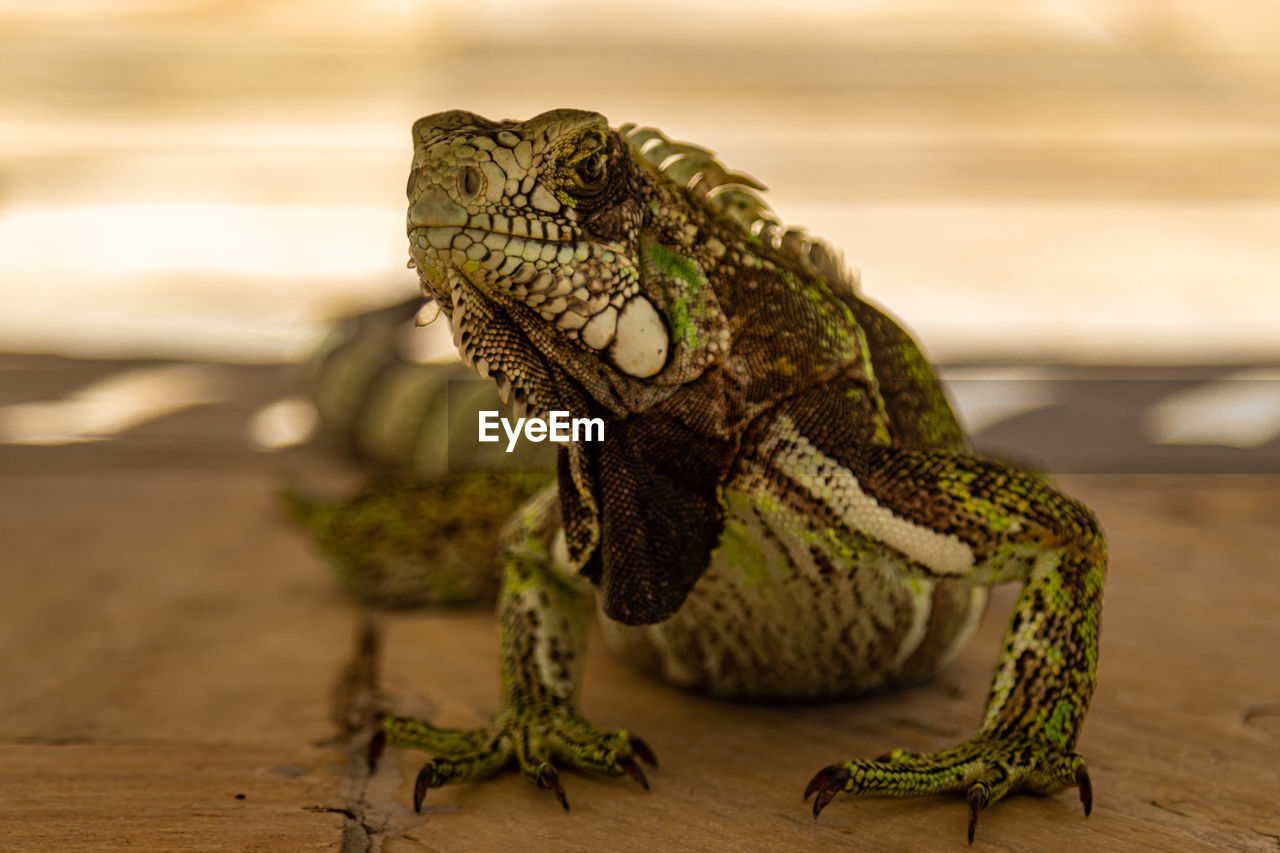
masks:
[[[975,432],[1124,365],[1183,384],[1115,456],[1275,448],[1277,44],[1262,0],[0,0],[0,352],[300,361],[416,293],[415,118],[579,106],[754,174],[937,361],[1021,370],[948,374]],[[115,423],[46,415],[0,442]]]

